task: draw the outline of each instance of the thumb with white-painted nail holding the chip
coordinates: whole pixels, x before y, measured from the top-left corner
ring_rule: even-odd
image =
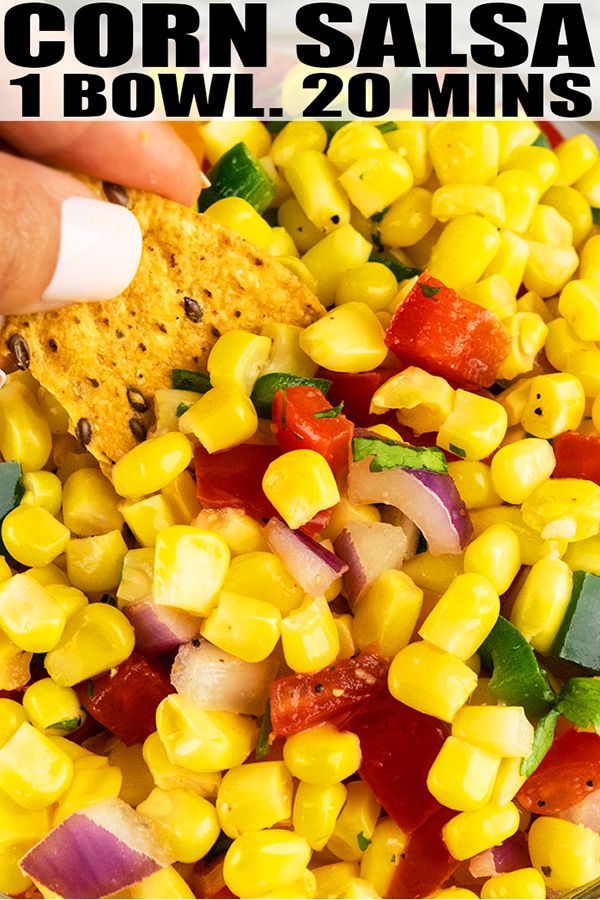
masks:
[[[136,273],[137,219],[63,172],[0,153],[0,313],[110,300]]]

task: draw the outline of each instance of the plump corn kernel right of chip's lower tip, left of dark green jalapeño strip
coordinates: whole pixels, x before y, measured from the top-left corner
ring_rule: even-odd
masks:
[[[258,428],[256,409],[234,385],[211,388],[179,419],[184,434],[192,433],[209,453],[243,444]]]

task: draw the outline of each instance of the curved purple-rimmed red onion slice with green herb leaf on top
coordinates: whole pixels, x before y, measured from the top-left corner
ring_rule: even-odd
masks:
[[[350,464],[351,503],[396,506],[423,532],[434,556],[466,547],[473,525],[450,475],[400,467],[371,472],[370,465],[370,457]]]

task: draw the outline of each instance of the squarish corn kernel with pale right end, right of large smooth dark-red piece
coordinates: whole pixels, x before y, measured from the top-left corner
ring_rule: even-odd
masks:
[[[499,766],[497,754],[448,737],[429,770],[427,787],[449,809],[481,809],[490,801]]]

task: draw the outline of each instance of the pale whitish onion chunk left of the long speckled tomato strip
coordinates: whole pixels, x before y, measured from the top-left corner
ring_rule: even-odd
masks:
[[[261,716],[278,669],[274,659],[244,662],[214,644],[183,644],[171,669],[171,684],[203,709]]]

